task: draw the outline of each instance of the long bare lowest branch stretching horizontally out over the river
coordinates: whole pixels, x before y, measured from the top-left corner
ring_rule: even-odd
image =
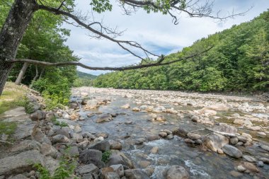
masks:
[[[83,67],[84,69],[91,69],[91,70],[124,71],[124,70],[129,70],[129,69],[142,69],[142,68],[146,68],[146,67],[157,67],[157,66],[163,66],[163,65],[173,64],[173,63],[176,63],[176,62],[183,61],[185,59],[191,59],[193,57],[197,57],[200,54],[203,54],[205,52],[208,52],[211,49],[212,49],[212,47],[210,47],[207,50],[204,50],[202,52],[199,52],[199,53],[190,55],[188,57],[183,57],[183,58],[180,58],[180,59],[175,59],[175,60],[170,61],[170,62],[164,62],[164,59],[166,57],[162,56],[161,59],[159,59],[158,61],[156,61],[154,63],[151,63],[151,64],[139,64],[139,65],[129,66],[129,67],[90,67],[90,66],[87,66],[86,64],[81,64],[80,62],[56,62],[56,63],[50,63],[50,62],[42,62],[42,61],[38,61],[38,60],[33,60],[33,59],[13,59],[13,60],[7,60],[6,62],[11,62],[11,63],[28,62],[30,64],[37,64],[37,65],[48,66],[48,67],[76,65],[76,66],[79,66],[79,67]]]

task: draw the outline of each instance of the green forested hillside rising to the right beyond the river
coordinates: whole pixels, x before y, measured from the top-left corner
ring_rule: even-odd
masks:
[[[98,87],[188,91],[269,91],[269,11],[198,40],[166,60],[212,50],[176,64],[98,76]]]

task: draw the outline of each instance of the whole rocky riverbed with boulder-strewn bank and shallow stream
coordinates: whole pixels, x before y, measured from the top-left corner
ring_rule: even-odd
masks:
[[[64,110],[40,103],[1,116],[18,126],[0,178],[39,178],[35,163],[53,175],[66,155],[73,178],[269,178],[262,98],[81,87]]]

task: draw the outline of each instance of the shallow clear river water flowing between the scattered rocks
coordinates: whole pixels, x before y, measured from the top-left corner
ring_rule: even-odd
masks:
[[[85,91],[85,90],[84,90]],[[71,100],[81,101],[81,91],[73,90],[73,97]],[[79,121],[83,132],[100,133],[106,132],[109,134],[108,139],[118,140],[122,143],[122,151],[132,159],[136,168],[143,168],[142,161],[147,161],[147,165],[154,168],[154,173],[151,178],[162,179],[165,178],[165,171],[169,166],[180,165],[184,166],[190,173],[190,178],[269,178],[269,165],[264,165],[263,168],[258,168],[259,173],[236,173],[236,166],[238,166],[243,159],[231,158],[225,154],[217,154],[211,151],[205,151],[202,146],[194,146],[186,144],[181,137],[174,136],[173,139],[158,139],[151,142],[144,142],[142,145],[135,145],[135,139],[145,138],[147,134],[159,134],[162,129],[173,130],[177,127],[183,127],[187,130],[196,130],[205,128],[207,126],[192,122],[189,117],[180,118],[178,115],[163,112],[162,115],[166,118],[166,125],[160,122],[148,121],[150,117],[149,112],[133,112],[132,108],[137,107],[135,102],[137,99],[149,100],[152,104],[158,103],[166,108],[173,107],[175,110],[196,110],[197,106],[178,105],[171,106],[167,101],[159,100],[157,98],[148,98],[149,96],[139,96],[139,92],[131,98],[124,98],[122,93],[113,93],[108,91],[98,91],[98,89],[88,93],[88,98],[105,98],[110,99],[111,103],[108,105],[101,105],[98,109],[83,110],[81,108],[80,115],[86,120]],[[126,96],[125,96],[126,97]],[[224,97],[225,98],[225,97]],[[242,101],[243,103],[244,101]],[[130,109],[122,109],[120,106],[130,104]],[[251,103],[251,102],[250,102]],[[253,102],[254,103],[254,102]],[[113,117],[110,122],[96,123],[96,116],[87,117],[89,112],[103,112],[103,113],[121,113]],[[231,122],[225,118],[229,113],[240,113],[241,111],[229,110],[225,112],[218,112],[216,122]],[[260,113],[257,113],[258,115]],[[262,114],[263,115],[263,114]],[[265,113],[266,115],[266,113]],[[132,121],[131,125],[125,124],[127,121]],[[247,132],[253,136],[256,134],[249,129],[239,127],[240,132]],[[200,131],[201,134],[207,134],[206,131]],[[126,136],[130,136],[126,138]],[[263,144],[268,143],[268,135],[264,138],[259,138],[258,142]],[[152,147],[159,147],[157,154],[151,154]],[[255,158],[267,157],[268,152],[263,151],[257,144],[252,146],[239,146],[243,154],[254,156]]]

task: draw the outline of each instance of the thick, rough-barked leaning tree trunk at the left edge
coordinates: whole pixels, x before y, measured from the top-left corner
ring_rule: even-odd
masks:
[[[0,95],[3,92],[9,71],[12,68],[11,62],[15,59],[18,45],[30,23],[33,13],[38,9],[35,0],[15,0],[8,13],[6,22],[0,32]]]

